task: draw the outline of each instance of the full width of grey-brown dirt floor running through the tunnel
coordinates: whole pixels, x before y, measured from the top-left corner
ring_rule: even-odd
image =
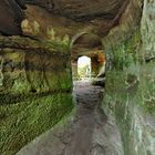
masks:
[[[115,126],[107,123],[100,108],[103,89],[78,82],[74,94],[78,111],[72,122],[46,132],[17,155],[117,155],[122,152],[113,146],[114,141],[120,141],[120,135],[113,130]]]

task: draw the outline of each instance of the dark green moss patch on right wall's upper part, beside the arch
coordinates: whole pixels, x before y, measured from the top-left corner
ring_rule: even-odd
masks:
[[[110,59],[115,70],[124,70],[131,63],[136,63],[142,59],[141,51],[141,32],[135,32],[130,39],[121,40],[115,43],[104,43],[107,60]]]

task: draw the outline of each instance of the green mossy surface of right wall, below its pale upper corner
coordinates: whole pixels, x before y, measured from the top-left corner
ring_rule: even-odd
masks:
[[[152,141],[145,120],[155,116],[155,63],[143,62],[141,46],[140,33],[106,46],[113,68],[106,72],[103,106],[120,128],[125,155],[142,154]]]

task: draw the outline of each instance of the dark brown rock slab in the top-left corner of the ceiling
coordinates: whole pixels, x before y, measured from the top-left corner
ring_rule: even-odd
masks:
[[[21,34],[20,23],[23,20],[23,0],[0,1],[0,33],[6,35]]]

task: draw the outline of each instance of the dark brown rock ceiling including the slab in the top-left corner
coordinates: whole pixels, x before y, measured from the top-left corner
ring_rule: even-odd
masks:
[[[128,0],[1,0],[0,32],[16,34],[23,19],[24,3],[35,4],[52,14],[91,25],[94,33],[105,35],[116,24]],[[102,29],[102,30],[101,30]]]

